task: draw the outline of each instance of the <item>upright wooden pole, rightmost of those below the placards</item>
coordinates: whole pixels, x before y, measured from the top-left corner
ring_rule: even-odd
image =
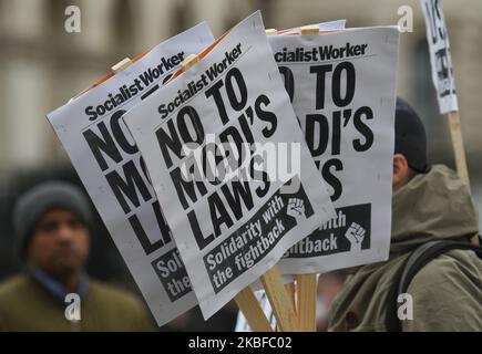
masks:
[[[316,274],[296,275],[296,287],[299,329],[304,332],[316,332]]]

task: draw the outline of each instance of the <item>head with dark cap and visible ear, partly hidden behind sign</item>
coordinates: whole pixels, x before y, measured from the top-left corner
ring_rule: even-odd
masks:
[[[414,175],[428,170],[423,123],[417,112],[400,97],[397,97],[394,136],[393,190],[397,190]]]

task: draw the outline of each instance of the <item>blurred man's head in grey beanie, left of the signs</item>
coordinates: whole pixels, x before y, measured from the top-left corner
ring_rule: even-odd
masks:
[[[57,279],[83,268],[89,254],[91,222],[84,194],[62,181],[44,183],[25,191],[13,210],[21,258]]]

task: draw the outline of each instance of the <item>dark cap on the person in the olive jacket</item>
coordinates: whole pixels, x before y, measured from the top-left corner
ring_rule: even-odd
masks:
[[[418,173],[429,169],[425,128],[417,112],[400,97],[394,114],[394,153],[402,154]]]

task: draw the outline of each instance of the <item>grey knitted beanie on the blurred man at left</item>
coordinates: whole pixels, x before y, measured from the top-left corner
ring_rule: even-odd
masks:
[[[68,209],[88,228],[92,226],[91,207],[80,188],[64,181],[40,184],[22,194],[13,208],[17,249],[22,259],[37,222],[52,208]]]

